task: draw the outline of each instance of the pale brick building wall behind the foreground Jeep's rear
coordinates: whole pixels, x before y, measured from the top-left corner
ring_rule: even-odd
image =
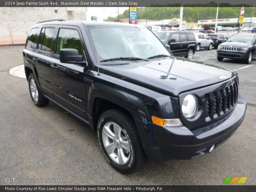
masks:
[[[25,44],[32,25],[63,18],[86,21],[86,7],[0,7],[0,45]]]

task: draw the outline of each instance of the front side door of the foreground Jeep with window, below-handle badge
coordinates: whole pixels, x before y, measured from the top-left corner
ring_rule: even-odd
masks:
[[[52,90],[55,100],[76,115],[87,119],[86,114],[86,56],[82,34],[77,27],[59,26],[55,39],[55,51],[50,63]],[[77,49],[83,55],[83,64],[60,62],[60,50]]]

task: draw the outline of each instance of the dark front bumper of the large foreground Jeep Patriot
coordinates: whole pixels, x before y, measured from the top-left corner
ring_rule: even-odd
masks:
[[[204,127],[189,130],[185,126],[160,127],[150,123],[151,142],[143,148],[149,159],[158,162],[205,155],[213,145],[218,147],[232,136],[243,122],[245,111],[246,102],[239,95],[236,107],[228,116]]]

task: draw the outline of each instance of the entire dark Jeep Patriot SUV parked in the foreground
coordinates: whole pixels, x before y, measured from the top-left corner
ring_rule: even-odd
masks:
[[[235,71],[175,58],[145,27],[38,23],[23,58],[34,104],[51,100],[96,130],[104,157],[122,173],[147,157],[212,152],[245,116]]]

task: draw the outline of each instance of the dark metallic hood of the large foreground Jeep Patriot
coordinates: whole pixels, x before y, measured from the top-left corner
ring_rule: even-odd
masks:
[[[119,64],[100,65],[99,67],[103,74],[173,97],[178,97],[181,92],[220,83],[236,75],[234,71],[222,67],[180,58],[174,61],[168,73],[172,61],[173,59],[122,64],[119,62]],[[219,76],[226,78],[220,80]]]

